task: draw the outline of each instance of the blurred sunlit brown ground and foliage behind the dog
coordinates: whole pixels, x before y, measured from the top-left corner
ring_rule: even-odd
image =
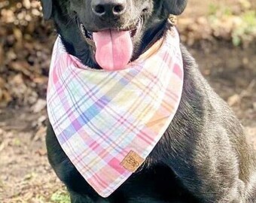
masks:
[[[256,1],[188,2],[181,41],[256,148]],[[0,0],[0,202],[69,202],[44,144],[55,38],[38,1]]]

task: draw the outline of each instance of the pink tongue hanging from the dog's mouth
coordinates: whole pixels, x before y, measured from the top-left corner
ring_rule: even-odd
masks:
[[[117,71],[126,68],[133,53],[130,32],[105,30],[93,32],[96,44],[96,62],[105,70]]]

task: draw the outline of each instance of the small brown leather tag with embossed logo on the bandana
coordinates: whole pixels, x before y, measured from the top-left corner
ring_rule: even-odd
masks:
[[[135,172],[145,160],[142,159],[136,152],[130,151],[120,163],[124,168],[130,172]]]

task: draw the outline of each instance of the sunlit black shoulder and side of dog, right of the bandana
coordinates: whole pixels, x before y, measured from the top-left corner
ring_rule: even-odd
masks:
[[[185,75],[181,103],[151,158],[162,159],[201,202],[254,203],[254,150],[194,59],[184,48],[182,52]]]

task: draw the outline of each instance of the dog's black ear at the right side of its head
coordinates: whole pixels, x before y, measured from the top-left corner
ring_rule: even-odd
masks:
[[[164,0],[163,4],[167,11],[169,11],[169,14],[179,15],[186,8],[187,0]]]

